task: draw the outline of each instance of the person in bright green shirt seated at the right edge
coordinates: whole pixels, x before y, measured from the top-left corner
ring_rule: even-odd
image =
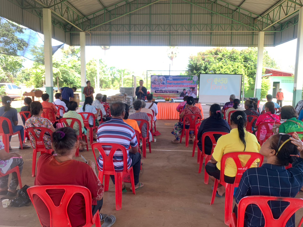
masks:
[[[279,127],[279,133],[303,132],[303,122],[297,120],[298,114],[293,106],[284,106],[281,108],[281,119],[285,122]],[[303,134],[299,134],[300,140],[303,139]]]

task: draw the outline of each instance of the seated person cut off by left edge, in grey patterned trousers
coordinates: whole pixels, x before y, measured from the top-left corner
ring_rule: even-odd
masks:
[[[4,144],[0,140],[0,172],[6,173],[8,170],[19,166],[20,175],[23,168],[22,157],[17,153],[6,153],[4,150]],[[8,176],[5,175],[0,177],[0,195],[16,196],[17,186],[18,186],[18,176],[17,173],[12,173],[11,183],[8,184]]]

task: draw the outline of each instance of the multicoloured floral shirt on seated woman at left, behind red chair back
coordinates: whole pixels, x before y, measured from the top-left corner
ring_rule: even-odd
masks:
[[[50,128],[52,127],[52,122],[48,120],[47,118],[44,117],[30,117],[25,121],[25,128],[30,128],[30,127],[42,127],[42,128]],[[40,131],[34,129],[36,136],[40,137]],[[29,139],[31,140],[32,146],[35,149],[36,148],[36,140],[35,137],[32,135],[32,133],[29,133]],[[46,149],[52,149],[52,139],[51,136],[48,135],[46,132],[43,136],[43,141],[45,144]]]

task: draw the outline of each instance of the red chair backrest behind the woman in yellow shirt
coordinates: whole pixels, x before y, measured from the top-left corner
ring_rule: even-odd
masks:
[[[247,161],[247,163],[244,166],[242,166],[242,163],[239,159],[239,155],[250,155],[249,160]],[[230,152],[230,153],[224,154],[222,156],[222,159],[221,159],[221,171],[220,171],[221,172],[220,173],[220,180],[223,180],[223,181],[224,181],[225,162],[228,158],[233,159],[236,166],[237,166],[235,187],[238,187],[243,173],[251,167],[252,163],[256,159],[260,159],[260,165],[259,166],[261,166],[262,163],[263,163],[264,156],[261,155],[260,153],[257,153],[257,152]]]

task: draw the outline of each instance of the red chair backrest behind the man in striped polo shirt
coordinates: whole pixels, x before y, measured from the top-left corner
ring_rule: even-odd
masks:
[[[105,153],[104,148],[110,149],[109,155]],[[102,156],[103,171],[115,171],[113,156],[115,155],[115,152],[117,150],[122,151],[123,171],[127,170],[127,151],[124,146],[118,143],[93,143],[92,144],[93,153],[95,153],[95,149],[97,149],[99,151],[99,154]]]

